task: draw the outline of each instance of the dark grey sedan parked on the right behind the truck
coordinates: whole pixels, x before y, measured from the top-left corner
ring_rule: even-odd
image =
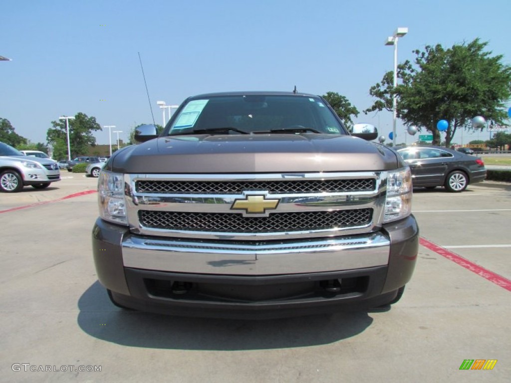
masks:
[[[459,151],[435,146],[396,150],[410,165],[413,187],[444,186],[449,192],[457,193],[486,178],[484,162]]]

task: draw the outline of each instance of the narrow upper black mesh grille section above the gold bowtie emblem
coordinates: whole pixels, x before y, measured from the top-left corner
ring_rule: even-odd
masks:
[[[372,178],[298,181],[137,181],[138,193],[241,194],[268,190],[271,194],[367,192],[375,189]]]

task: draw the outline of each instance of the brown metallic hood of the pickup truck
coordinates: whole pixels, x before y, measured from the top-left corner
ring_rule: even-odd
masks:
[[[180,135],[115,153],[119,173],[291,173],[392,170],[403,165],[376,142],[331,134]]]

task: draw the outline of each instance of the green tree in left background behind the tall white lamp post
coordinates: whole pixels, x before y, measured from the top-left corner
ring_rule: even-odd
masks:
[[[48,129],[47,140],[54,148],[55,158],[67,158],[67,134],[65,121],[52,121],[53,128]],[[102,130],[96,122],[96,117],[77,113],[74,119],[69,119],[69,143],[71,144],[71,158],[87,152],[89,146],[96,146],[96,137],[93,132]],[[65,145],[65,155],[62,146]]]

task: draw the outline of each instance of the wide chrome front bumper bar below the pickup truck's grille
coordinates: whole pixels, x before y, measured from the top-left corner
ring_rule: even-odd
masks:
[[[361,269],[388,264],[381,233],[278,244],[207,243],[127,236],[125,267],[201,274],[270,275]]]

